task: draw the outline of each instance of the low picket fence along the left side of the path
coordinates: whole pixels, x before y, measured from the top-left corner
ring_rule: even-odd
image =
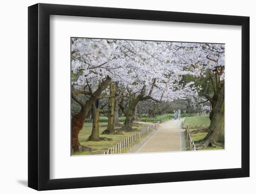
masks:
[[[140,140],[145,134],[159,127],[160,122],[152,124],[136,134],[130,135],[124,140],[117,143],[115,146],[111,147],[107,151],[104,151],[102,154],[121,154],[122,151],[127,150],[129,147],[135,144],[138,140]]]

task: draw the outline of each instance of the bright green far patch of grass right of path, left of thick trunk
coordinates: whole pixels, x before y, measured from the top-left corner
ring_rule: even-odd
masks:
[[[188,126],[189,128],[209,127],[209,125],[210,119],[208,116],[194,116],[184,120],[184,126]]]

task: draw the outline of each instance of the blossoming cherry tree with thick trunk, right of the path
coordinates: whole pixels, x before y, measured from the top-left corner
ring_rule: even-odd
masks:
[[[207,81],[203,96],[211,104],[208,134],[202,146],[212,146],[216,141],[224,142],[224,51],[223,44],[174,43],[174,60],[187,66],[192,74],[198,74]],[[213,94],[208,94],[209,84]]]

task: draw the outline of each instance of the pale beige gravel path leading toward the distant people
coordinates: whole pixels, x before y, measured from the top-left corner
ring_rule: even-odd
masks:
[[[136,153],[170,152],[186,150],[185,130],[182,120],[169,120],[138,148]]]

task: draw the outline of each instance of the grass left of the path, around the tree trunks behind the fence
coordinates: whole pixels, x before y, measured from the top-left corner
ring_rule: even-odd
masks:
[[[100,122],[100,137],[112,138],[113,140],[87,141],[88,137],[91,134],[92,123],[84,123],[84,126],[79,133],[79,141],[80,141],[81,145],[86,146],[86,147],[91,147],[93,149],[93,151],[92,152],[83,151],[83,152],[79,152],[79,153],[73,153],[72,155],[102,154],[103,151],[115,146],[121,140],[125,139],[126,137],[128,137],[132,134],[136,134],[137,131],[139,131],[147,126],[147,125],[142,125],[142,124],[135,124],[133,126],[135,131],[132,131],[132,132],[121,131],[120,134],[102,134],[101,135],[101,133],[106,129],[107,125],[108,125],[107,122]],[[116,127],[116,128],[119,128],[119,127]]]

